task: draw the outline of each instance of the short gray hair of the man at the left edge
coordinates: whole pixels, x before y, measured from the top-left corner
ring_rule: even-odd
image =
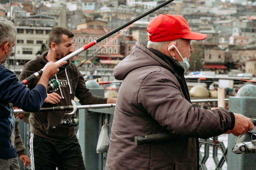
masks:
[[[9,46],[11,46],[11,43],[15,40],[16,33],[17,29],[12,21],[0,19],[0,46],[5,42],[9,42]]]

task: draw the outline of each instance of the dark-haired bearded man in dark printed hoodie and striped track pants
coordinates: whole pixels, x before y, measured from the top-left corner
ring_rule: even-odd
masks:
[[[49,51],[38,55],[34,60],[24,65],[19,75],[23,80],[29,75],[40,70],[46,62],[56,62],[74,52],[74,34],[63,27],[56,26],[48,38]],[[59,82],[59,89],[47,94],[42,107],[72,105],[74,97],[81,104],[115,103],[116,98],[103,98],[94,96],[86,88],[84,78],[71,61],[59,68],[54,77]],[[37,81],[28,84],[33,88]],[[30,159],[31,169],[85,169],[82,152],[75,135],[74,127],[60,125],[62,119],[74,115],[65,115],[65,112],[38,112],[29,117],[30,123]],[[89,154],[89,153],[87,153]]]

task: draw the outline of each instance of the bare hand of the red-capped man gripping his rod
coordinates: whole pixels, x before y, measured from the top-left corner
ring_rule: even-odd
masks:
[[[232,133],[235,136],[245,134],[248,131],[252,131],[254,124],[250,118],[247,118],[241,114],[234,113],[235,124],[232,130],[226,132],[226,134]]]

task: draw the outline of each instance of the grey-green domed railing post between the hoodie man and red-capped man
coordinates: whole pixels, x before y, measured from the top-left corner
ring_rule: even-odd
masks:
[[[96,81],[87,81],[86,87],[95,96],[104,97],[104,89]],[[102,161],[96,153],[99,132],[102,125],[100,114],[89,113],[88,109],[79,109],[79,143],[86,169],[101,169]]]

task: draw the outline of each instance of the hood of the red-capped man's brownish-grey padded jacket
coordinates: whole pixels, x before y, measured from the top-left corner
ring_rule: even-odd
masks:
[[[144,45],[137,42],[135,46],[133,46],[131,53],[114,68],[113,74],[116,80],[123,80],[132,70],[153,65],[161,66],[174,72],[166,62],[161,60],[161,58]]]

